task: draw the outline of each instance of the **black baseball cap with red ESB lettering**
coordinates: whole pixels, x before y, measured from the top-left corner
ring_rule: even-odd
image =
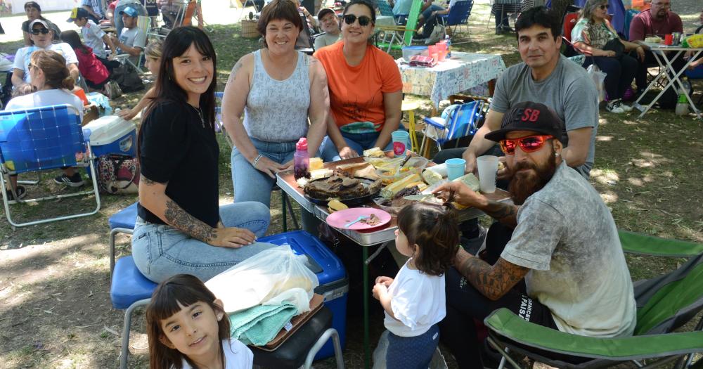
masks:
[[[564,130],[564,122],[554,110],[541,103],[525,101],[517,103],[505,113],[501,129],[486,134],[486,138],[498,142],[505,139],[505,134],[510,131],[534,131],[548,134],[565,143]]]

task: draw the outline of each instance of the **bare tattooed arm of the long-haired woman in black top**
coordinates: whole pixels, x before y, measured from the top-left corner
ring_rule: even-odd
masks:
[[[167,185],[168,183],[158,183],[142,175],[139,179],[139,203],[169,226],[209,245],[241,247],[254,242],[254,233],[247,229],[220,228],[221,222],[218,222],[218,228],[212,228],[188,214],[166,195]]]

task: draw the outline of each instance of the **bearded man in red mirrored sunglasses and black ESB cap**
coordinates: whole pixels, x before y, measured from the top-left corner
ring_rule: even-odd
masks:
[[[501,307],[576,335],[632,335],[635,299],[615,222],[593,186],[562,160],[563,129],[546,105],[524,102],[505,114],[501,129],[486,134],[505,153],[515,205],[488,200],[463,183],[435,190],[515,228],[505,242],[489,231],[479,257],[459,247],[447,272],[440,337],[460,368],[483,368],[474,320]]]

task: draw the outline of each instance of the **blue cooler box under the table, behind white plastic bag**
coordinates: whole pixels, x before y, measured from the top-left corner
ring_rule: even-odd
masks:
[[[279,235],[269,235],[259,238],[259,242],[269,242],[273,245],[290,245],[290,248],[299,255],[306,255],[309,268],[313,271],[320,285],[315,293],[325,297],[325,306],[333,313],[332,327],[340,334],[342,349],[347,342],[347,293],[349,292],[349,279],[342,261],[331,252],[321,240],[306,231],[291,231]],[[317,353],[315,360],[334,356],[335,349],[332,340]]]

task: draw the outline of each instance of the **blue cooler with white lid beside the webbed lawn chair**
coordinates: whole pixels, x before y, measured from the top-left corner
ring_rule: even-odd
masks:
[[[96,157],[108,154],[136,157],[136,125],[117,115],[106,115],[84,125],[83,135],[89,139]]]

